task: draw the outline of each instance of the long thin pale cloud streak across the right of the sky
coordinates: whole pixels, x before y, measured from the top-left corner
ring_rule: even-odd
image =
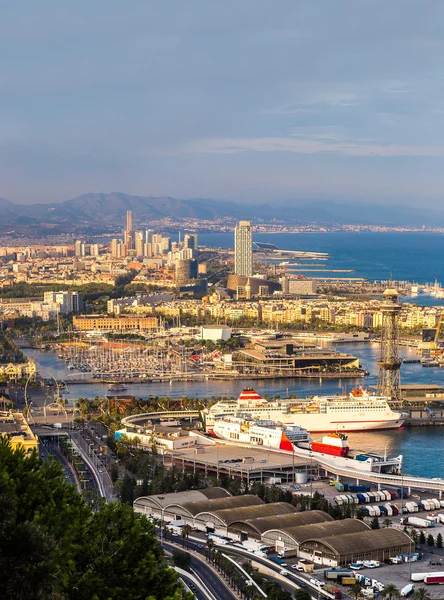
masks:
[[[444,146],[415,146],[375,144],[366,141],[341,140],[330,133],[310,138],[299,135],[288,137],[212,138],[189,142],[182,147],[185,153],[240,154],[243,152],[295,152],[298,154],[339,154],[343,156],[381,157],[444,157]]]

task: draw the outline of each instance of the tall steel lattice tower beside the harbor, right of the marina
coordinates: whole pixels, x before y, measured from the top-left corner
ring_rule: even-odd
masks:
[[[386,396],[392,401],[401,400],[401,377],[399,360],[399,327],[398,315],[401,305],[398,302],[398,292],[388,287],[381,305],[382,334],[381,354],[378,361],[378,396]]]

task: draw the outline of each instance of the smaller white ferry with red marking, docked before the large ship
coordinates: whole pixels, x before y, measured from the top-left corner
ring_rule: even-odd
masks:
[[[242,417],[224,417],[213,426],[212,435],[236,444],[251,444],[288,450],[293,452],[293,444],[309,448],[310,436],[306,429],[297,426],[284,427],[273,421],[255,421]]]

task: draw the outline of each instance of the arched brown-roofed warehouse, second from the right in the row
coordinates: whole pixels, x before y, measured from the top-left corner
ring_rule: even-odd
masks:
[[[344,519],[342,521],[324,519],[323,522],[299,524],[291,527],[279,525],[276,529],[265,531],[262,535],[262,541],[267,546],[274,546],[277,552],[285,551],[287,554],[291,552],[300,555],[300,546],[306,540],[357,533],[368,529],[369,526],[358,519]]]

